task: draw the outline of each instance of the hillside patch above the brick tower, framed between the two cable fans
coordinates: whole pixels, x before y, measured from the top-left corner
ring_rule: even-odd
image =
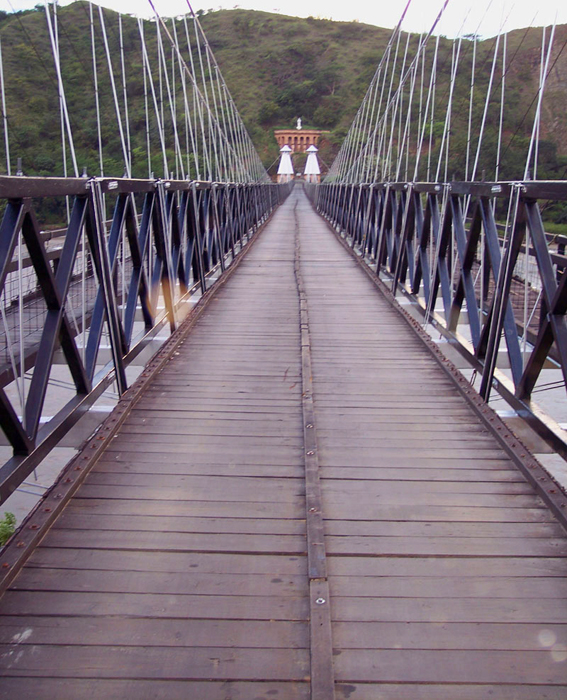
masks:
[[[390,30],[266,12],[220,11],[201,18],[249,130],[267,159],[271,129],[348,130]],[[269,154],[269,155],[268,155]]]

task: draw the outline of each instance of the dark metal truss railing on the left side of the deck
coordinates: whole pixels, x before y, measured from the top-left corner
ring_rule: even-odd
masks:
[[[160,329],[173,332],[287,196],[275,184],[0,177],[0,427],[5,500]],[[62,246],[37,212],[67,198]],[[31,324],[31,325],[30,325]],[[101,359],[101,347],[111,360]],[[56,357],[72,397],[46,419]]]

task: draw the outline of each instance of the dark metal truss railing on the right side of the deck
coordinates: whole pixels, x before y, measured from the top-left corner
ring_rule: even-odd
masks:
[[[567,182],[324,183],[307,193],[481,375],[481,396],[496,389],[567,458],[567,433],[532,401],[544,366],[561,370],[556,384],[567,379],[566,241],[554,251],[542,221],[544,206],[567,200]]]

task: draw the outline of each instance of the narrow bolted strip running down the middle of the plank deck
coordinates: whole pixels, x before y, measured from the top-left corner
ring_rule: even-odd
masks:
[[[333,700],[335,678],[333,671],[333,640],[331,607],[327,579],[327,555],[323,529],[321,483],[317,428],[313,404],[313,375],[311,370],[311,340],[307,297],[301,276],[301,244],[297,203],[295,217],[294,272],[299,295],[301,329],[301,380],[305,459],[305,508],[307,530],[307,568],[309,576],[311,700]]]

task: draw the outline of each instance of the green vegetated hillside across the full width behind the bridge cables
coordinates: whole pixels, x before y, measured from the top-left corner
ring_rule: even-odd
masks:
[[[105,11],[111,51],[118,56],[117,15]],[[391,31],[357,22],[300,19],[247,10],[223,10],[201,14],[200,21],[218,60],[234,100],[260,154],[268,167],[278,155],[273,129],[290,127],[302,117],[306,127],[328,131],[321,155],[330,163],[344,138],[368,83],[387,44]],[[155,23],[146,22],[150,56],[157,55]],[[100,36],[100,31],[97,30]],[[60,174],[62,171],[60,116],[56,76],[44,10],[15,14],[0,13],[0,35],[7,86],[12,163],[23,160],[26,174]],[[59,39],[63,77],[73,124],[79,165],[98,173],[97,128],[91,62],[88,5],[76,2],[59,9]],[[559,49],[567,39],[567,26],[558,27],[557,50],[543,114],[539,158],[540,178],[565,177],[567,167],[567,56]],[[405,37],[404,37],[405,40]],[[132,129],[134,174],[148,172],[145,154],[143,72],[138,27],[124,18],[124,44],[128,75],[129,118]],[[503,178],[518,178],[523,164],[534,110],[539,74],[541,31],[518,30],[508,37],[510,69],[506,78]],[[417,38],[409,43],[411,58]],[[489,81],[494,40],[478,47],[477,85],[474,93],[474,123],[479,124]],[[432,48],[429,49],[430,55]],[[452,42],[441,39],[438,113],[433,123],[433,156],[439,148],[448,92]],[[450,175],[462,177],[466,149],[472,42],[461,48],[461,72],[455,86],[454,121],[451,132]],[[99,70],[107,71],[99,49]],[[119,59],[115,74],[119,76]],[[108,75],[106,73],[106,75]],[[493,94],[497,94],[497,73]],[[426,77],[427,84],[427,77]],[[100,85],[103,111],[105,171],[122,174],[120,143],[108,79]],[[493,176],[499,108],[491,105],[487,115],[485,147],[478,173]],[[473,134],[473,139],[475,135]],[[0,168],[4,168],[3,146]],[[138,157],[136,157],[138,156]],[[173,157],[173,156],[172,156]],[[154,166],[152,165],[152,168]],[[155,170],[159,170],[156,158]]]

